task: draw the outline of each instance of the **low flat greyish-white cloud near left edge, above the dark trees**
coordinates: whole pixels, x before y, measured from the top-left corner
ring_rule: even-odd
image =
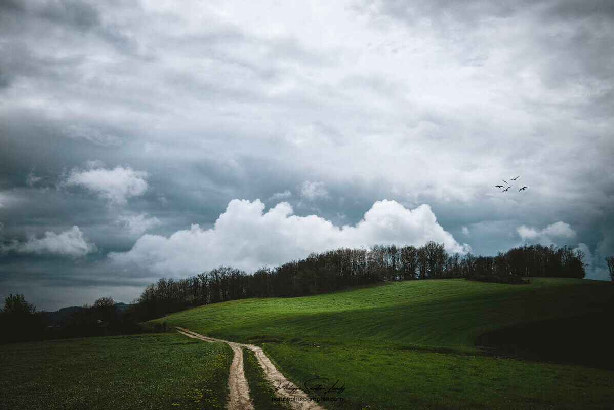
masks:
[[[79,226],[75,225],[60,233],[47,231],[42,238],[30,236],[27,242],[14,243],[13,249],[20,253],[52,253],[78,258],[93,252],[96,246],[88,242]]]

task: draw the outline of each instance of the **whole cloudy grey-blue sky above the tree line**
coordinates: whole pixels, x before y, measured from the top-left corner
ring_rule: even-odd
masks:
[[[606,280],[613,113],[611,1],[0,0],[0,296],[429,240]]]

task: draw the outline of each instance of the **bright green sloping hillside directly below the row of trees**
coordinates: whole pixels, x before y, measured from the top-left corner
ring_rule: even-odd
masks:
[[[614,284],[534,278],[529,285],[417,280],[296,298],[228,301],[158,319],[233,341],[379,343],[475,351],[499,327],[607,311]]]

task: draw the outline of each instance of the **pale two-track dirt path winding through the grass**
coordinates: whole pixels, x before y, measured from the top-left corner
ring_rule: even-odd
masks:
[[[265,371],[266,378],[274,386],[278,386],[280,385],[281,381],[287,380],[258,346],[210,338],[209,336],[200,335],[192,330],[181,327],[176,327],[176,329],[185,336],[190,336],[190,338],[201,339],[208,342],[226,343],[235,352],[235,358],[230,365],[230,375],[228,376],[228,390],[230,390],[230,397],[226,406],[228,410],[254,410],[251,400],[249,400],[249,388],[247,387],[247,379],[243,369],[242,347],[247,347],[247,349],[254,350],[258,363],[260,363],[260,366]],[[324,410],[314,401],[306,401],[307,395],[305,392],[298,389],[298,387],[292,382],[287,381],[284,382],[283,385],[286,386],[286,389],[279,389],[276,391],[276,393],[278,393],[279,396],[289,399],[288,403],[290,404],[292,410]]]

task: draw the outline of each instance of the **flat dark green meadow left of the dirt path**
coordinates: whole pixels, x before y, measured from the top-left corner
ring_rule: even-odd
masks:
[[[0,346],[2,409],[223,409],[227,344],[178,333]]]

